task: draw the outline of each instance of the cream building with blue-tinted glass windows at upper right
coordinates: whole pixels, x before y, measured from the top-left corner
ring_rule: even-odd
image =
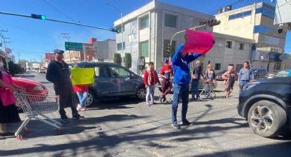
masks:
[[[220,25],[214,32],[235,35],[255,40],[251,55],[254,68],[266,68],[268,72],[281,69],[279,55],[283,53],[286,42],[286,30],[278,33],[279,25],[273,25],[275,8],[266,3],[221,12],[216,15]],[[232,41],[227,41],[230,45]]]

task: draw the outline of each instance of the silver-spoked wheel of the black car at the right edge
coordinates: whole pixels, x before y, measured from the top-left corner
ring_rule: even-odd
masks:
[[[268,100],[261,100],[251,106],[248,113],[249,126],[262,137],[275,137],[286,125],[284,109]]]

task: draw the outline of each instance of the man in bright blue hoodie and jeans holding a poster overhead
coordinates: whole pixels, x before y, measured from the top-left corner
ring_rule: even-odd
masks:
[[[187,37],[185,37],[187,40]],[[201,54],[181,52],[183,44],[179,44],[177,51],[171,59],[174,71],[174,86],[173,86],[173,104],[172,104],[172,126],[179,129],[177,124],[177,109],[178,101],[182,100],[181,125],[189,126],[190,122],[186,119],[189,102],[189,83],[191,80],[189,63],[197,59]]]

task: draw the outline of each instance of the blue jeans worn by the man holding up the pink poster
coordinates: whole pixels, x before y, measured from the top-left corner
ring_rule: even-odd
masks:
[[[173,86],[172,124],[177,123],[177,109],[180,97],[182,100],[181,120],[185,122],[189,102],[189,85],[174,84]]]

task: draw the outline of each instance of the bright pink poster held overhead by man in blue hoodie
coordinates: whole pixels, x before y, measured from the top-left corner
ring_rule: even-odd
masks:
[[[186,44],[184,44],[181,52],[205,54],[210,51],[214,45],[212,33],[186,29],[186,35],[188,40],[186,41]]]

